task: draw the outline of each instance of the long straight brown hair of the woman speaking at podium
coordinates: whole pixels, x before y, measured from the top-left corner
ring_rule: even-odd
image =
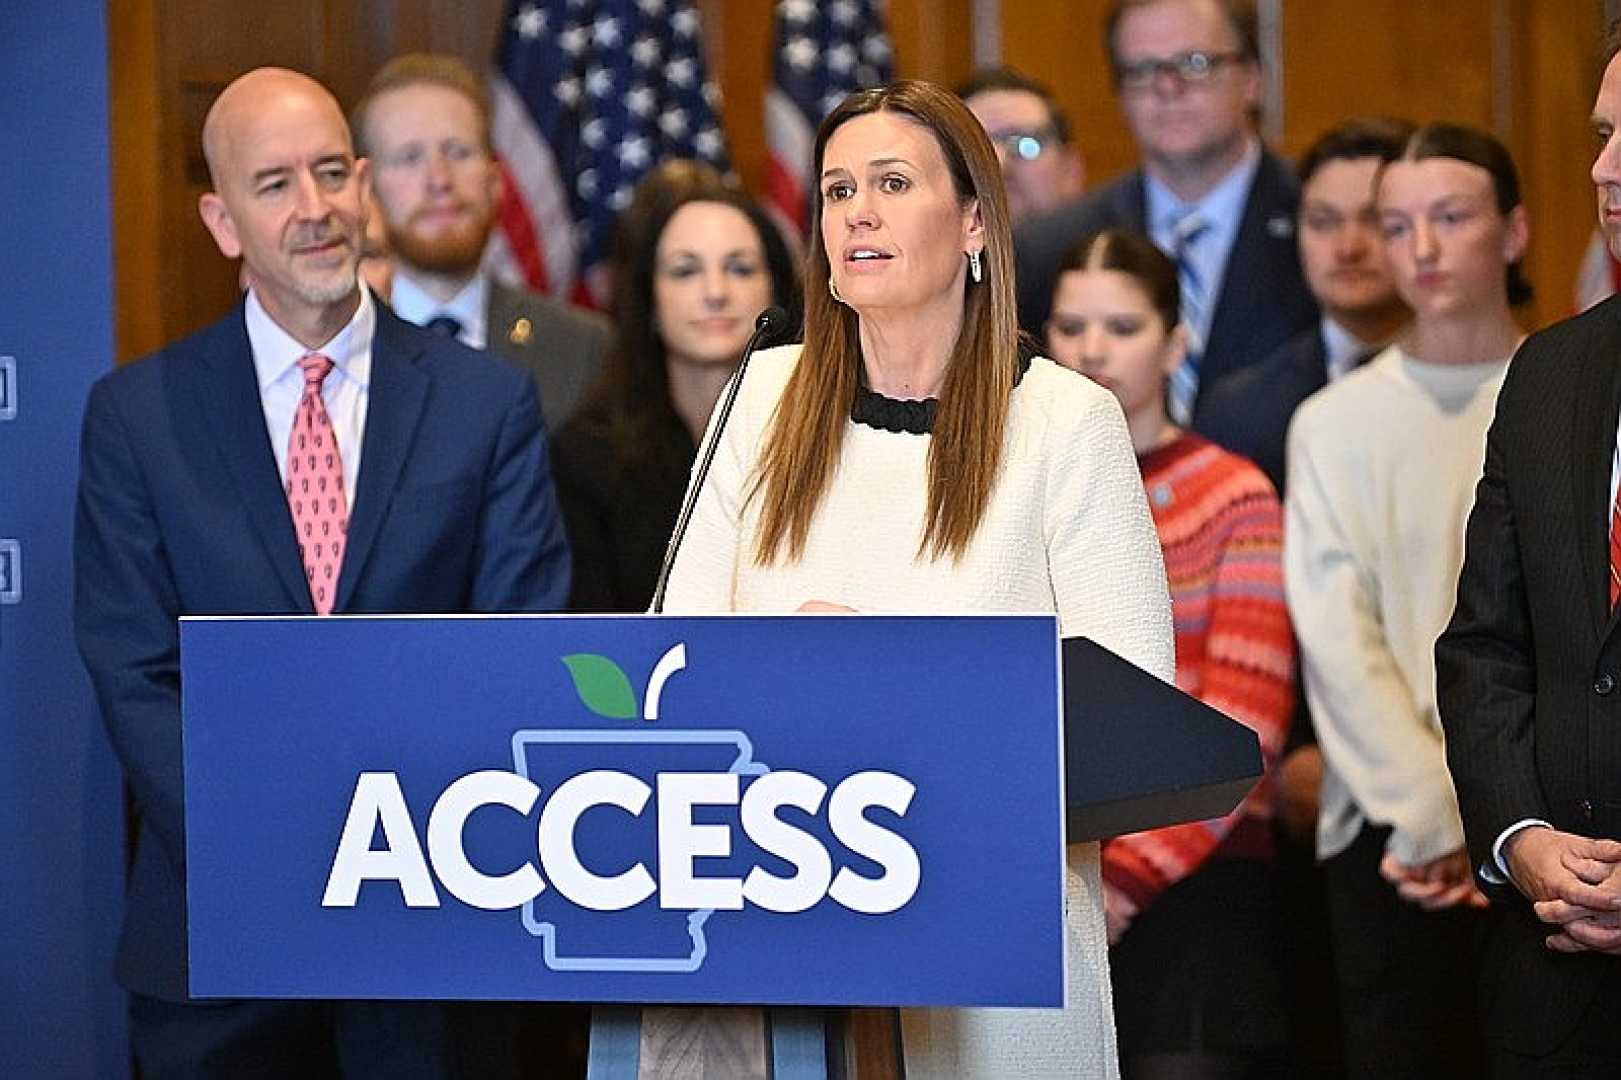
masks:
[[[917,556],[960,559],[979,527],[1002,465],[1008,397],[1018,371],[1013,305],[1013,235],[995,149],[963,102],[922,81],[900,81],[851,94],[822,122],[810,175],[810,251],[806,259],[806,341],[770,425],[749,498],[763,496],[755,561],[788,548],[804,555],[810,519],[838,464],[845,425],[861,379],[856,313],[833,300],[822,243],[822,159],[833,131],[854,117],[895,112],[934,135],[963,206],[979,199],[984,281],[964,277],[963,326],[947,362],[929,446],[929,503]]]

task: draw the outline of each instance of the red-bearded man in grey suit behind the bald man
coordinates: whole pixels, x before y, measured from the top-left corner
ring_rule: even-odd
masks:
[[[454,57],[397,57],[355,109],[355,141],[373,162],[394,251],[389,303],[410,323],[527,370],[546,428],[559,430],[597,378],[608,326],[481,269],[503,198],[483,81]]]

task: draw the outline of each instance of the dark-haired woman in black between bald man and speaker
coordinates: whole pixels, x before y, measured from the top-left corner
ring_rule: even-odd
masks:
[[[747,195],[658,172],[622,229],[603,375],[553,441],[572,611],[647,610],[697,439],[754,319],[780,303],[798,326],[788,245]]]

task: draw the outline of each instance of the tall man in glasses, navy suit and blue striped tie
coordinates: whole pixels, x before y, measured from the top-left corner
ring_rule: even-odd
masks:
[[[1146,232],[1182,271],[1190,349],[1169,399],[1196,428],[1208,388],[1316,323],[1298,191],[1255,131],[1261,68],[1240,0],[1117,0],[1106,31],[1143,167],[1015,232],[1020,324],[1041,336],[1057,268],[1084,235]]]

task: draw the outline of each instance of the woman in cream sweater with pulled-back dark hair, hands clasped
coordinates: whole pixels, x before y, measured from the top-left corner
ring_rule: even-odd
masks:
[[[1420,128],[1379,174],[1414,323],[1289,431],[1289,608],[1323,746],[1318,858],[1352,1077],[1480,1075],[1472,936],[1485,903],[1436,715],[1435,641],[1486,426],[1524,334],[1525,208],[1483,131]]]

